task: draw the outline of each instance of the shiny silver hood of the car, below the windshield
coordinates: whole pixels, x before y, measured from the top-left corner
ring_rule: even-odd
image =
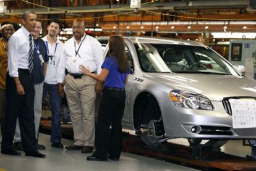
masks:
[[[211,101],[232,96],[256,97],[256,81],[247,77],[190,73],[147,73],[144,76],[169,86],[170,91],[190,91],[202,94]]]

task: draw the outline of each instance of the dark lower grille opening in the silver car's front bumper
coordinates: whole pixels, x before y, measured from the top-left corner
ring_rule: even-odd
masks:
[[[200,125],[201,131],[198,134],[203,135],[233,135],[229,127],[212,127]]]

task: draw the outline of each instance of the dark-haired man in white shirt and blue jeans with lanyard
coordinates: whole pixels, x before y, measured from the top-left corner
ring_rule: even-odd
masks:
[[[52,19],[47,27],[48,35],[42,38],[46,44],[48,53],[48,64],[43,85],[43,99],[49,94],[51,104],[51,146],[53,148],[63,148],[61,143],[61,96],[58,93],[58,81],[56,78],[59,60],[63,43],[57,36],[61,28],[61,22],[58,19]]]

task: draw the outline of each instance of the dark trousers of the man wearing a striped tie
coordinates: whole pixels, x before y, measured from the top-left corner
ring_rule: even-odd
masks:
[[[34,123],[34,98],[35,90],[32,74],[27,70],[19,69],[19,80],[25,91],[24,95],[17,94],[14,78],[7,73],[6,95],[7,107],[4,118],[4,131],[2,134],[2,150],[12,149],[12,141],[19,118],[20,133],[23,151],[36,149],[35,123]]]

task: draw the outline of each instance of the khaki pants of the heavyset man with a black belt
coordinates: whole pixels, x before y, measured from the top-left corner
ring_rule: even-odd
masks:
[[[88,76],[75,79],[67,74],[65,85],[74,131],[74,144],[94,146],[96,80]]]

